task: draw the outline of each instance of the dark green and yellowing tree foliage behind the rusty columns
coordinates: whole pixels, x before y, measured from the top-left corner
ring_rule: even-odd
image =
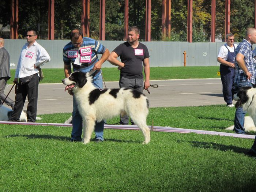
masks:
[[[0,24],[10,24],[10,0],[1,1]],[[151,39],[156,41],[187,41],[188,0],[172,0],[171,37],[162,34],[162,0],[151,1]],[[55,0],[55,39],[68,39],[71,29],[81,27],[82,0]],[[129,26],[140,28],[145,39],[146,0],[129,0]],[[254,1],[231,1],[230,32],[236,41],[244,38],[245,30],[254,27]],[[48,38],[48,0],[19,0],[19,38],[28,29]],[[225,1],[216,0],[216,37],[225,36]],[[99,0],[90,1],[90,36],[99,38]],[[122,40],[124,35],[124,0],[106,0],[105,39]],[[193,0],[193,42],[207,42],[211,38],[211,1]]]

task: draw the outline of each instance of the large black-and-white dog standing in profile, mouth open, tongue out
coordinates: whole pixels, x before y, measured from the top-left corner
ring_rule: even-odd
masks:
[[[143,143],[150,142],[150,129],[146,124],[149,102],[143,93],[124,88],[97,89],[91,83],[92,77],[83,72],[73,72],[62,82],[67,85],[65,90],[72,90],[83,117],[84,144],[90,142],[95,121],[107,120],[119,114],[128,114],[142,130]]]

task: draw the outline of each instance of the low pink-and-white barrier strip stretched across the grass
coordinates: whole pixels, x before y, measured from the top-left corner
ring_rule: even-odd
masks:
[[[72,124],[65,124],[65,123],[28,123],[28,122],[0,121],[0,124],[72,127]],[[148,126],[148,127],[152,130],[151,126]],[[140,130],[137,125],[106,125],[106,124],[104,124],[104,128],[105,129]],[[197,134],[231,136],[231,137],[236,137],[236,138],[255,139],[255,135],[242,135],[242,134],[236,134],[236,133],[226,133],[226,132],[217,132],[217,131],[204,131],[204,130],[196,130],[196,129],[182,129],[182,128],[174,128],[174,127],[153,126],[153,130],[152,131],[157,131],[157,132],[176,132],[176,133],[197,133]]]

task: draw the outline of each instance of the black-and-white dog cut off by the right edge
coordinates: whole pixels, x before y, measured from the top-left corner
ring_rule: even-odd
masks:
[[[237,101],[236,107],[242,106],[243,110],[246,111],[252,117],[253,122],[256,122],[255,95],[256,95],[255,87],[241,87],[240,89],[238,89],[237,94],[234,94],[234,100]],[[245,124],[247,124],[246,121],[245,121]],[[252,123],[249,123],[249,124],[252,124]],[[245,125],[245,126],[253,127],[252,125]],[[254,130],[252,129],[249,131],[254,131]]]

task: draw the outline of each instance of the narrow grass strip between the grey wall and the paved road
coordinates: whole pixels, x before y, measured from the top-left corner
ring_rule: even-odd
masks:
[[[61,83],[61,79],[65,78],[64,69],[42,69],[45,78],[40,83]],[[209,67],[151,67],[150,80],[162,79],[192,79],[192,78],[220,78],[217,76],[219,66]],[[144,72],[143,72],[144,73]],[[115,68],[102,68],[102,74],[105,81],[119,81],[120,71]],[[15,69],[11,70],[11,79],[14,79]]]

